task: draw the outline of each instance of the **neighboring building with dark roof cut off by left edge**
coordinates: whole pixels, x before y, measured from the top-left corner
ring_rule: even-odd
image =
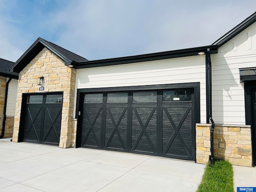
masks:
[[[19,74],[9,72],[14,62],[0,58],[0,138],[12,137]]]

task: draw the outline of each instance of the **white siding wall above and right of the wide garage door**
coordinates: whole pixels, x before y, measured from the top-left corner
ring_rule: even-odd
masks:
[[[106,88],[200,82],[201,123],[205,123],[205,75],[204,55],[77,69],[75,92],[77,89],[82,88]]]

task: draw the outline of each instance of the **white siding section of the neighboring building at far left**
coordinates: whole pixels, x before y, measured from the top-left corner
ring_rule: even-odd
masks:
[[[18,80],[12,79],[8,87],[7,105],[6,105],[6,116],[14,117],[16,98],[17,98],[17,87]]]

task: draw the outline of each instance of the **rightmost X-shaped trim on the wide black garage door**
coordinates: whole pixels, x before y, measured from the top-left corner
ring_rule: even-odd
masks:
[[[186,117],[187,117],[187,115],[188,115],[190,109],[191,109],[191,107],[187,108],[187,110],[186,110],[186,112],[184,113],[184,115],[182,116],[182,118],[181,118],[181,120],[180,120],[178,126],[176,127],[174,121],[172,120],[172,117],[170,116],[170,113],[168,112],[167,108],[164,107],[164,112],[166,113],[166,115],[167,115],[167,117],[168,117],[170,123],[172,124],[172,127],[173,127],[173,129],[174,129],[174,133],[172,134],[172,137],[170,138],[170,140],[169,140],[169,142],[168,142],[166,148],[164,149],[163,154],[166,154],[166,153],[167,153],[167,151],[169,150],[170,146],[172,145],[172,142],[174,141],[175,136],[177,135],[178,138],[180,139],[180,142],[181,142],[181,144],[182,144],[184,150],[186,151],[187,155],[188,155],[189,157],[191,156],[191,154],[190,154],[190,152],[188,151],[188,148],[187,148],[187,146],[186,146],[186,144],[185,144],[184,140],[182,139],[182,136],[180,135],[180,132],[179,132],[179,130],[180,130],[180,128],[181,128],[181,126],[182,126],[184,120],[186,119]]]

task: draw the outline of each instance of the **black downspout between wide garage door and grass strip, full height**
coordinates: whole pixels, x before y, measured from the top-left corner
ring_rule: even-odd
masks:
[[[209,120],[212,123],[212,129],[211,129],[211,133],[210,133],[210,141],[211,141],[211,155],[209,156],[209,166],[211,167],[212,164],[214,163],[214,142],[213,142],[213,132],[214,132],[214,120],[212,119],[212,62],[211,62],[211,57],[210,57],[210,49],[207,49],[207,59],[208,63],[206,65],[208,65],[208,70],[206,69],[206,73],[208,71],[208,77],[206,78],[206,81],[208,81],[208,89],[207,89],[207,83],[206,83],[206,96],[208,93],[208,101],[209,103],[206,104],[206,108],[208,105],[208,112],[207,112],[207,119],[206,123],[209,123]]]

